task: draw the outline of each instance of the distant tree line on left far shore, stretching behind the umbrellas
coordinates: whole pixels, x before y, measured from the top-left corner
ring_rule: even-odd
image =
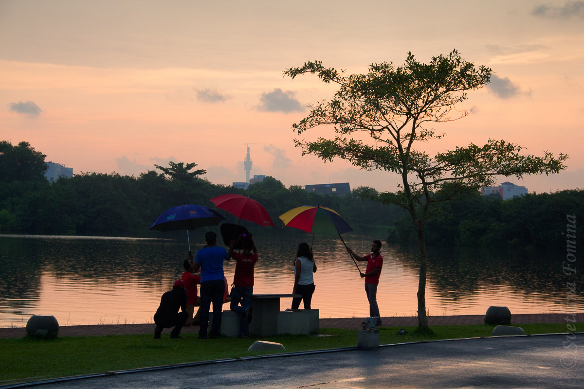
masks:
[[[148,237],[148,227],[166,209],[183,204],[214,208],[209,199],[226,193],[260,202],[276,226],[281,226],[279,215],[301,205],[335,209],[356,231],[387,230],[403,213],[360,196],[373,188],[356,188],[338,197],[308,193],[298,185],[286,188],[266,177],[242,190],[201,178],[206,171],[195,169],[196,163],[155,165],[138,177],[81,173],[49,183],[44,178],[45,157],[27,142],[0,142],[0,233]]]

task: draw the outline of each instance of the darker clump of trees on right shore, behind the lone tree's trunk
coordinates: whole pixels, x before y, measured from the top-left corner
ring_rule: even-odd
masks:
[[[440,246],[521,246],[562,250],[566,246],[566,215],[576,215],[576,237],[582,237],[584,190],[552,194],[526,194],[503,201],[499,195],[470,193],[458,201],[442,203],[428,220],[428,244]],[[388,241],[408,244],[416,240],[411,220],[399,219]]]

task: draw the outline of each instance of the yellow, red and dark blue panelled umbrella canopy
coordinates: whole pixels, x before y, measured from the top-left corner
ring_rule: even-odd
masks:
[[[340,235],[353,231],[336,211],[320,205],[298,206],[279,217],[284,225],[309,233]]]

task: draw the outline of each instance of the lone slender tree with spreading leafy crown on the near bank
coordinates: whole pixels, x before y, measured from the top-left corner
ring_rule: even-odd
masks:
[[[370,193],[370,198],[384,204],[396,204],[409,213],[416,228],[419,247],[418,325],[427,331],[426,316],[426,243],[424,227],[432,216],[434,202],[447,201],[461,192],[478,190],[493,183],[493,176],[552,174],[565,169],[567,156],[555,158],[522,155],[521,146],[506,141],[489,140],[484,146],[466,147],[437,153],[434,157],[422,146],[444,136],[434,131],[432,123],[464,117],[452,115],[457,103],[467,99],[467,91],[484,86],[491,79],[491,69],[476,68],[456,50],[433,57],[423,64],[408,53],[405,64],[372,64],[366,74],[346,76],[322,62],[306,62],[290,68],[284,75],[296,78],[312,73],[325,83],[336,83],[338,90],[330,100],[321,100],[310,114],[293,125],[298,135],[316,127],[335,131],[333,139],[315,141],[294,139],[303,155],[349,160],[364,170],[398,173],[397,192]],[[367,141],[369,135],[369,141]],[[366,140],[364,140],[366,139]],[[440,195],[435,195],[440,192]]]

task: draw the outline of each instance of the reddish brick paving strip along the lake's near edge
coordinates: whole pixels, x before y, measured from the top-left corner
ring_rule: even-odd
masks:
[[[428,324],[432,325],[470,325],[483,324],[484,315],[459,315],[459,316],[428,316]],[[511,324],[534,324],[534,323],[584,323],[584,313],[530,313],[512,314]],[[363,317],[349,318],[322,318],[319,322],[321,328],[343,328],[346,330],[360,330],[363,325]],[[410,327],[418,324],[415,316],[406,317],[382,317],[383,327]],[[567,332],[568,330],[566,330]],[[582,331],[582,328],[578,328]],[[164,333],[169,333],[166,329]],[[182,334],[196,334],[199,326],[183,327]],[[95,324],[95,325],[62,325],[59,327],[60,337],[80,337],[91,336],[100,337],[105,335],[134,335],[134,334],[154,334],[154,324]],[[25,327],[0,328],[0,338],[22,338],[26,335]]]

